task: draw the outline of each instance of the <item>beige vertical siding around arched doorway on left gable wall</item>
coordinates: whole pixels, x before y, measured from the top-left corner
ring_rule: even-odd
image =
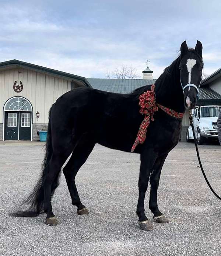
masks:
[[[21,71],[21,73],[18,73]],[[16,93],[13,90],[14,81],[22,81],[23,90]],[[71,90],[71,81],[49,76],[29,69],[10,69],[0,72],[0,123],[3,123],[3,106],[14,96],[27,98],[33,107],[33,123],[48,123],[50,106],[62,94]],[[35,113],[40,113],[37,120]]]

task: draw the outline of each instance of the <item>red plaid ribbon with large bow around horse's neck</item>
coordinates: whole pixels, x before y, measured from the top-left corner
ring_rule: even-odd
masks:
[[[151,91],[146,91],[144,94],[141,94],[139,97],[139,105],[141,107],[140,113],[145,115],[144,120],[142,121],[140,128],[137,133],[136,140],[131,148],[131,152],[133,152],[138,144],[143,144],[146,138],[147,128],[150,125],[150,120],[154,121],[154,112],[158,111],[158,108],[162,109],[168,115],[173,116],[175,118],[182,118],[183,113],[178,113],[172,109],[166,108],[160,104],[157,104],[155,101],[155,93],[154,93],[155,85],[152,84]]]

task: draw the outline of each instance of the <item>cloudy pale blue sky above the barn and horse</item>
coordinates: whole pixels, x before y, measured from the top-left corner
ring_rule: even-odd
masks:
[[[122,64],[157,78],[186,40],[203,44],[205,73],[221,67],[220,0],[0,0],[0,62],[18,59],[88,78]]]

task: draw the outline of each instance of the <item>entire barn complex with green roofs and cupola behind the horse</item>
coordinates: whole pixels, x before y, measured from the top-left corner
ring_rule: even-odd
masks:
[[[147,67],[142,79],[85,78],[19,60],[0,63],[0,140],[39,140],[38,131],[48,126],[50,106],[67,91],[92,87],[130,93],[154,84]],[[221,69],[202,81],[197,105],[221,105]],[[182,121],[181,140],[186,139],[189,113]]]

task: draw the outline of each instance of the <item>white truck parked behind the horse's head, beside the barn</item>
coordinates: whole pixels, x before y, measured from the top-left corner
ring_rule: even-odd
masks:
[[[215,138],[218,140],[217,118],[221,106],[200,106],[192,109],[193,126],[196,134],[196,140],[199,145],[203,144],[206,138]],[[191,126],[186,131],[186,141],[193,139]]]

